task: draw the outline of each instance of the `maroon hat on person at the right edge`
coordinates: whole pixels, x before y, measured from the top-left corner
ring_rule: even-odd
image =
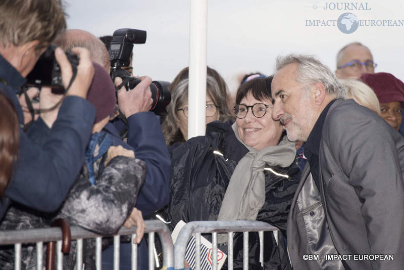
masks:
[[[404,83],[386,72],[366,73],[361,76],[363,82],[375,92],[380,103],[398,101],[404,104]]]

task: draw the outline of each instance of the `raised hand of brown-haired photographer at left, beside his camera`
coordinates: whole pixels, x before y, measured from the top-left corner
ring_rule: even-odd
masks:
[[[90,53],[87,49],[79,47],[73,48],[72,53],[78,55],[79,65],[77,66],[76,78],[70,86],[67,96],[79,96],[86,99],[88,88],[94,75]],[[56,48],[55,57],[61,67],[63,85],[67,88],[73,75],[72,66],[61,48]]]

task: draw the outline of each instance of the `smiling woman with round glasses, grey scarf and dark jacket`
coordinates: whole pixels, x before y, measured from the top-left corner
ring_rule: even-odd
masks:
[[[281,231],[299,181],[294,143],[283,126],[272,119],[270,78],[256,78],[240,85],[236,95],[235,122],[214,121],[206,136],[192,138],[172,151],[172,178],[167,214],[170,226],[179,220],[261,220]],[[208,103],[209,105],[209,103]],[[212,109],[207,106],[207,111]],[[182,111],[182,112],[181,112]],[[179,107],[177,112],[186,113]],[[208,114],[208,113],[207,113]],[[290,268],[283,236],[278,244],[264,232],[264,269]],[[218,237],[222,251],[233,248],[234,268],[243,266],[243,234],[235,233],[233,247]],[[249,234],[248,269],[261,268],[258,233]]]

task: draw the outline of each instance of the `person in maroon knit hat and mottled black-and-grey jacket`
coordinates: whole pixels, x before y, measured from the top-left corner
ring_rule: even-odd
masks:
[[[70,226],[80,226],[100,235],[116,233],[125,224],[127,228],[136,226],[136,243],[139,243],[144,230],[140,211],[134,208],[137,195],[146,175],[145,163],[134,158],[134,152],[122,146],[112,146],[110,134],[103,127],[116,110],[115,87],[107,71],[98,64],[94,65],[94,78],[88,91],[87,101],[96,109],[95,123],[92,126],[90,143],[85,151],[85,162],[80,174],[57,212],[41,215],[26,207],[10,207],[0,230],[40,228],[49,226],[57,218],[66,219]],[[58,104],[64,95],[55,95],[51,88],[42,87],[40,108]],[[52,103],[53,102],[53,103]],[[36,131],[32,141],[43,145],[47,133],[57,119],[59,108],[41,112],[38,121],[48,126],[39,128],[33,125],[29,133]],[[30,134],[28,134],[30,136]],[[108,240],[103,241],[105,247]],[[35,265],[35,251],[22,248],[23,268]],[[84,240],[83,258],[86,268],[94,269],[93,257],[95,242]],[[75,250],[64,258],[64,269],[72,269],[76,263]],[[0,269],[12,269],[14,266],[13,247],[0,250]]]

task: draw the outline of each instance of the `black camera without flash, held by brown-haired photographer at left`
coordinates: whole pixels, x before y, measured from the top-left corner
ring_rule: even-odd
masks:
[[[56,48],[55,45],[49,45],[45,52],[39,57],[34,68],[26,77],[26,86],[49,86],[52,87],[52,93],[54,94],[65,93],[61,69],[55,59]],[[79,64],[78,56],[72,53],[66,53],[66,56],[72,65],[73,76],[75,76]]]

